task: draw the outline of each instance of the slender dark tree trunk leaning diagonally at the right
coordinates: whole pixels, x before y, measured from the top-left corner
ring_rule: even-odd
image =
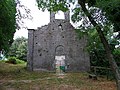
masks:
[[[113,58],[113,55],[111,54],[109,44],[108,44],[108,42],[103,34],[103,31],[101,30],[101,27],[94,21],[93,17],[86,9],[85,2],[83,2],[82,0],[78,0],[78,3],[81,5],[82,10],[84,11],[84,13],[86,14],[88,19],[90,20],[90,22],[93,24],[93,26],[96,28],[96,30],[98,32],[98,35],[99,35],[101,42],[103,43],[104,49],[106,51],[110,67],[111,67],[111,69],[114,73],[114,76],[116,78],[117,90],[120,90],[120,71],[119,71],[119,68],[118,68],[114,58]]]

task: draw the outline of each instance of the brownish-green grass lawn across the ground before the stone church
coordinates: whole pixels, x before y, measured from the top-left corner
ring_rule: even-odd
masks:
[[[66,73],[60,78],[55,73],[29,72],[25,64],[0,62],[0,90],[116,90],[116,85],[106,78],[89,79],[87,73]]]

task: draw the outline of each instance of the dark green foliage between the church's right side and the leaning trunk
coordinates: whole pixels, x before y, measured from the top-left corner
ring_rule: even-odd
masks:
[[[88,32],[87,51],[90,54],[91,66],[109,67],[105,50],[94,28]]]

